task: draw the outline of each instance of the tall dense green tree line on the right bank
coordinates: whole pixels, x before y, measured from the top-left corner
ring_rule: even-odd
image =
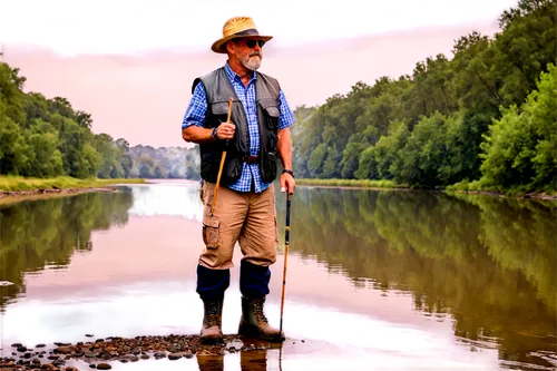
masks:
[[[411,76],[296,107],[296,175],[555,189],[556,1],[520,0],[498,20],[492,39],[456,40],[452,59],[439,53]]]

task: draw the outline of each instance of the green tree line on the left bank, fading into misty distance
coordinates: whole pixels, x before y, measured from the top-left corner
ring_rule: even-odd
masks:
[[[199,178],[198,148],[130,147],[91,131],[91,114],[68,99],[25,92],[27,80],[1,60],[0,174],[48,178]]]

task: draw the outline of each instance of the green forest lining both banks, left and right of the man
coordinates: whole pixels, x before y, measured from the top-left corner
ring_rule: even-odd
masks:
[[[452,56],[412,75],[355,82],[317,107],[296,107],[296,178],[371,179],[426,188],[555,192],[557,0],[519,0],[492,38],[471,31]],[[0,174],[26,177],[189,178],[198,147],[129,147],[91,131],[62,97],[25,92],[0,57]]]

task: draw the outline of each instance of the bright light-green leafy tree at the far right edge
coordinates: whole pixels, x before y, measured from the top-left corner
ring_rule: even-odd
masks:
[[[536,188],[557,180],[557,68],[548,66],[538,90],[518,108],[512,104],[490,126],[481,145],[482,180],[504,187]]]

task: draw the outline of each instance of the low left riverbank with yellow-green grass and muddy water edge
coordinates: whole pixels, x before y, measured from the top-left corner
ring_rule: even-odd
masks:
[[[107,188],[115,184],[143,184],[140,178],[116,179],[77,179],[69,176],[56,178],[26,178],[21,176],[0,176],[0,197],[29,196],[59,193],[82,193],[94,191],[113,191]]]

